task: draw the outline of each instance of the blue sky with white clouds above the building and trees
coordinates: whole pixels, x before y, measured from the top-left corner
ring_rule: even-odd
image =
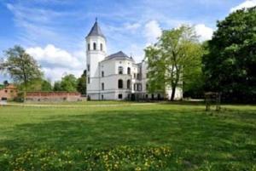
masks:
[[[202,42],[211,39],[217,20],[255,5],[256,0],[0,0],[0,58],[17,44],[51,82],[70,73],[79,77],[86,66],[84,37],[96,17],[108,54],[122,50],[140,62],[162,30],[195,26]],[[8,76],[0,74],[3,83]]]

